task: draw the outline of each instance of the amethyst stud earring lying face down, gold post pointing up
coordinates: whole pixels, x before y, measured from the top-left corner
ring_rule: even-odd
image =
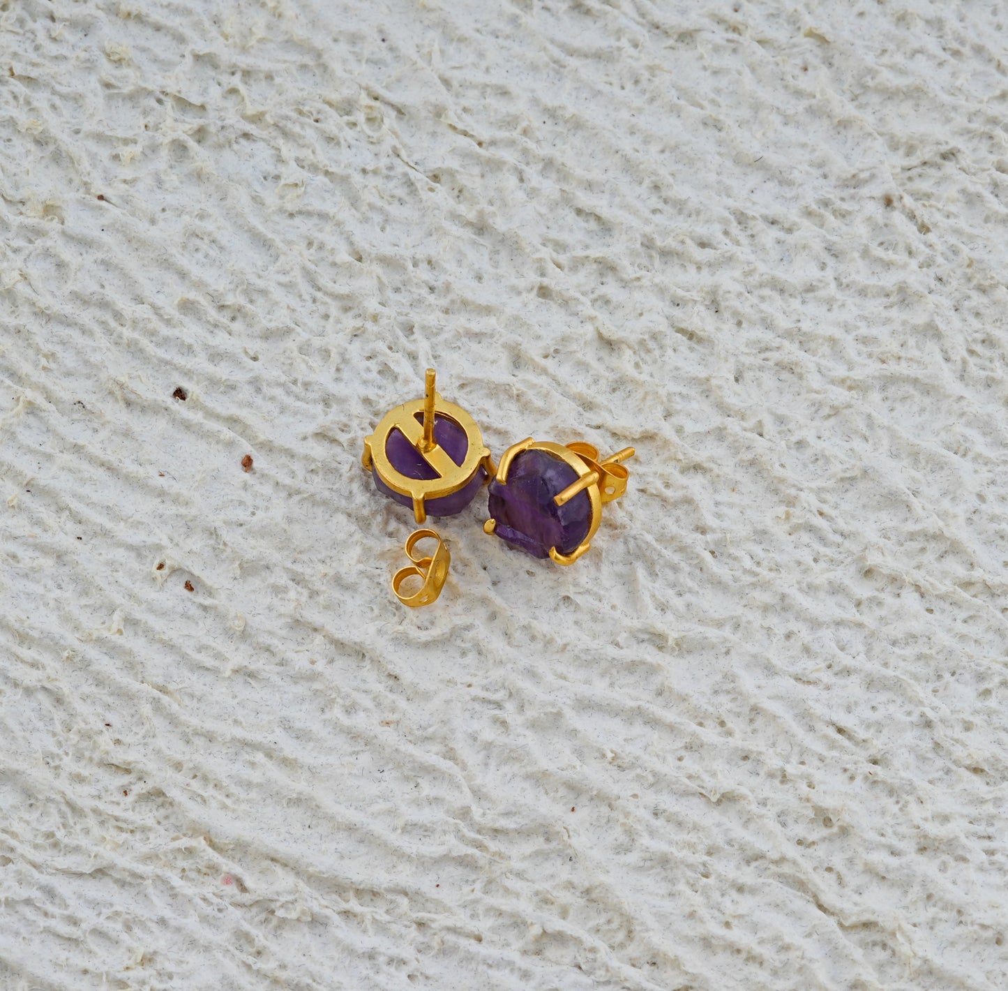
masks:
[[[476,420],[434,391],[432,368],[423,398],[387,412],[364,439],[361,461],[378,491],[410,506],[417,523],[462,512],[494,473]]]

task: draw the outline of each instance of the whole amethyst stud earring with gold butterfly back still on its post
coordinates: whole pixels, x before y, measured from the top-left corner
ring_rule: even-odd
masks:
[[[589,549],[603,504],[626,492],[630,473],[620,462],[633,455],[624,448],[599,461],[590,444],[512,445],[490,483],[483,529],[535,558],[573,565]]]

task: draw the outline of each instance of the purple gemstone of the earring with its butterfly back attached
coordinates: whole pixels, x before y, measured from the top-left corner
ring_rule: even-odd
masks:
[[[562,492],[578,473],[545,451],[522,451],[507,473],[507,482],[490,483],[487,509],[497,520],[494,533],[535,558],[548,558],[549,548],[561,554],[584,543],[592,524],[592,500],[579,492],[557,506],[553,496]]]

